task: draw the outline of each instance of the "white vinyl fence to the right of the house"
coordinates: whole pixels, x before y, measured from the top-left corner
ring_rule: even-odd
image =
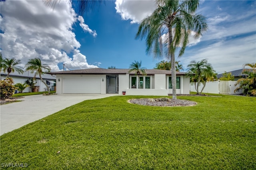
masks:
[[[214,82],[206,82],[206,86],[203,90],[203,93],[213,93],[213,94],[241,94],[242,90],[238,92],[234,92],[234,90],[238,87],[235,86],[236,81],[214,81]],[[197,84],[196,84],[197,85]],[[204,84],[199,84],[199,92],[201,92]],[[196,92],[194,83],[190,83],[190,91]]]

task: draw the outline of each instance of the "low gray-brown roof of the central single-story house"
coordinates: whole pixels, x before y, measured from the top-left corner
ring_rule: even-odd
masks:
[[[166,74],[171,75],[170,70],[158,70],[158,69],[144,69],[147,75],[154,74]],[[48,74],[135,74],[135,72],[129,72],[130,69],[105,69],[105,68],[87,68],[81,70],[67,70],[67,71],[58,71],[50,72]],[[176,72],[177,75],[186,75],[186,72]]]

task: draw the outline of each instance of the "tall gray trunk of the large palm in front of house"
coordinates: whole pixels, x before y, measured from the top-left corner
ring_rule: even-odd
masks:
[[[174,49],[172,45],[172,27],[168,27],[168,33],[169,33],[169,50],[170,50],[170,56],[171,56],[171,74],[172,74],[172,99],[177,99],[176,94],[176,69],[175,69],[175,56],[174,56]]]

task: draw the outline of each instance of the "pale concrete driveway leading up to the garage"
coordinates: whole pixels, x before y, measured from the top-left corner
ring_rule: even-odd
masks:
[[[56,94],[33,95],[18,99],[22,102],[0,106],[0,135],[42,119],[84,100],[106,98],[118,94]]]

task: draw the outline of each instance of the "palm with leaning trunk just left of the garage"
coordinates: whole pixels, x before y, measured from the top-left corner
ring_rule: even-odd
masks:
[[[42,79],[42,74],[44,74],[46,72],[50,72],[50,70],[51,70],[50,66],[48,66],[47,64],[42,64],[41,60],[39,58],[28,60],[28,63],[25,66],[26,66],[26,71],[35,72],[34,78],[36,78],[36,75],[39,74],[41,81],[47,87],[48,94],[50,94],[49,86]]]

